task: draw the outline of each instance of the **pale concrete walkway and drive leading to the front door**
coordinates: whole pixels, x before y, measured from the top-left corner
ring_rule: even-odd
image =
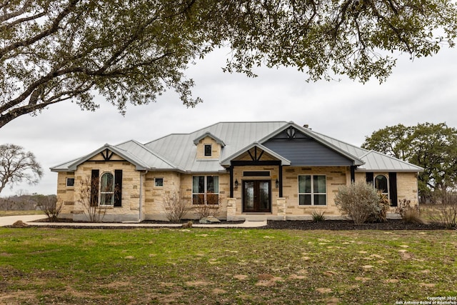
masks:
[[[21,220],[25,224],[31,226],[70,226],[70,227],[81,227],[81,228],[157,228],[157,227],[169,227],[169,228],[179,228],[182,224],[140,224],[137,222],[126,222],[126,223],[111,223],[111,222],[101,222],[101,223],[89,223],[89,222],[33,222],[39,219],[44,219],[44,215],[19,215],[19,216],[3,216],[0,217],[0,226],[11,226],[16,221]],[[266,220],[263,221],[244,221],[242,224],[193,224],[194,228],[258,228],[261,226],[266,226]]]

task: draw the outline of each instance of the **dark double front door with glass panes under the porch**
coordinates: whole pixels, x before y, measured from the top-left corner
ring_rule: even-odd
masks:
[[[270,212],[269,180],[243,181],[243,212]]]

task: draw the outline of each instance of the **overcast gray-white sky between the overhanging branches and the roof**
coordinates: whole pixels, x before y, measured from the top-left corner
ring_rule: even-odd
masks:
[[[173,92],[146,106],[129,106],[125,116],[97,97],[101,108],[81,111],[64,102],[38,116],[21,116],[0,129],[0,143],[32,151],[44,168],[37,186],[8,187],[1,196],[18,192],[55,194],[57,174],[49,167],[89,154],[105,143],[129,139],[141,143],[171,133],[190,133],[219,121],[294,121],[360,146],[373,131],[396,124],[446,122],[457,127],[457,50],[411,61],[399,57],[383,84],[342,79],[306,83],[296,69],[258,69],[258,77],[224,74],[224,51],[210,54],[186,75],[196,82],[194,96],[204,99],[194,109]]]

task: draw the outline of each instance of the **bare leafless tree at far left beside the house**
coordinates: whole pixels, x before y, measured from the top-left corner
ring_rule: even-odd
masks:
[[[33,153],[14,144],[0,145],[0,193],[7,184],[38,184],[41,176],[43,169]]]

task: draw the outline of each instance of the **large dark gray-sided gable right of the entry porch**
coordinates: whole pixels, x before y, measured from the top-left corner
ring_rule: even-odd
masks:
[[[352,159],[325,146],[297,129],[289,128],[263,143],[291,161],[291,166],[351,166]]]

